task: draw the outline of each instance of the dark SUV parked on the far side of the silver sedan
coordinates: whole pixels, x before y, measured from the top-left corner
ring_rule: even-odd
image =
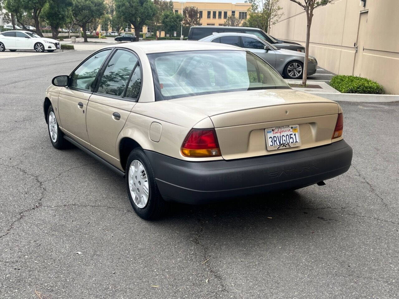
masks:
[[[213,33],[223,32],[236,32],[236,33],[249,33],[265,39],[268,43],[271,43],[275,47],[280,49],[287,49],[297,52],[305,52],[305,47],[299,43],[281,43],[275,40],[271,35],[259,28],[250,27],[227,27],[227,26],[192,26],[188,32],[188,40],[199,40],[207,37]]]

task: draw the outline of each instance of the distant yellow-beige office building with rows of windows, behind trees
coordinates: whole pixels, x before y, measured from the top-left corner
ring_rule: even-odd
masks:
[[[247,19],[250,3],[223,3],[223,2],[180,2],[173,1],[173,10],[183,14],[186,6],[195,6],[199,10],[201,26],[223,26],[228,16],[235,16],[239,20]]]

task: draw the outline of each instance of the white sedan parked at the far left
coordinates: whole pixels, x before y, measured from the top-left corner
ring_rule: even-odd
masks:
[[[0,33],[0,52],[10,50],[35,50],[53,52],[60,48],[59,41],[40,37],[30,31],[5,31]]]

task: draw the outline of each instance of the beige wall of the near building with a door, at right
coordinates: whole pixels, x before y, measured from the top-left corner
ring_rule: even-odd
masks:
[[[305,44],[306,13],[280,0],[284,15],[271,35]],[[377,81],[399,94],[399,0],[334,0],[316,8],[309,53],[321,67]]]

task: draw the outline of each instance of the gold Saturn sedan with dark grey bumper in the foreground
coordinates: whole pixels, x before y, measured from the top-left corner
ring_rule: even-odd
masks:
[[[43,109],[53,146],[74,144],[124,176],[144,219],[168,201],[322,185],[351,165],[340,105],[292,90],[239,47],[124,43],[52,83]]]

